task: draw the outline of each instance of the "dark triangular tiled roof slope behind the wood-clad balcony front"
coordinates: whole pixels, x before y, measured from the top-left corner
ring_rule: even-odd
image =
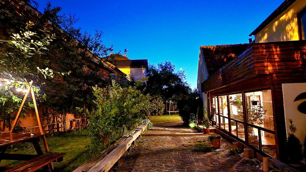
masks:
[[[211,75],[227,62],[243,53],[250,44],[200,46],[208,74]]]

